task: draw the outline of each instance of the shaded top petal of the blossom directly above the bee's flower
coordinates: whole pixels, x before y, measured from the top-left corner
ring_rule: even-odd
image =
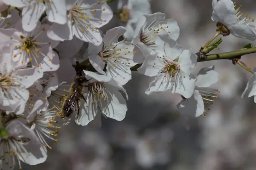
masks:
[[[108,30],[103,37],[103,42],[106,45],[111,45],[112,43],[117,43],[118,38],[126,32],[126,28],[123,26],[115,27]]]

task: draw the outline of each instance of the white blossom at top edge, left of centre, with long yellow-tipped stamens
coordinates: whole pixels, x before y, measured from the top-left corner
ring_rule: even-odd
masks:
[[[84,42],[94,45],[102,43],[99,28],[113,17],[107,3],[100,0],[67,0],[68,21],[64,25],[57,23],[47,32],[52,40],[71,40],[75,35]]]

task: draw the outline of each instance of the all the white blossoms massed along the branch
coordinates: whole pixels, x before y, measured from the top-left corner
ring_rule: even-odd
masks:
[[[52,149],[47,140],[58,142],[58,130],[72,115],[78,125],[101,115],[123,120],[128,110],[123,85],[135,70],[154,77],[146,94],[180,94],[181,114],[205,116],[217,98],[218,90],[209,86],[218,73],[212,66],[194,75],[192,68],[218,47],[220,41],[211,43],[218,35],[256,40],[254,20],[243,17],[232,0],[212,0],[217,34],[198,54],[177,43],[177,22],[161,12],[151,14],[148,0],[119,0],[121,26],[102,33],[113,17],[105,1],[3,0],[0,169],[44,162]],[[255,75],[242,97],[256,96]]]

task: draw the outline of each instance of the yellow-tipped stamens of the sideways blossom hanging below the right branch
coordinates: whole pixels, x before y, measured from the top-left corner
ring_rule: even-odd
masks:
[[[206,117],[205,113],[210,113],[209,105],[212,105],[216,98],[218,98],[217,94],[220,91],[212,89],[212,88],[199,88],[195,87],[195,90],[198,90],[200,95],[203,98],[204,102],[204,117]]]

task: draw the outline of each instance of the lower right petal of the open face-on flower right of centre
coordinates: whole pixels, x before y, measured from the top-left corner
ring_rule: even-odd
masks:
[[[172,93],[180,94],[186,99],[190,98],[195,90],[195,80],[192,74],[182,76],[182,78],[177,79],[173,85]]]

